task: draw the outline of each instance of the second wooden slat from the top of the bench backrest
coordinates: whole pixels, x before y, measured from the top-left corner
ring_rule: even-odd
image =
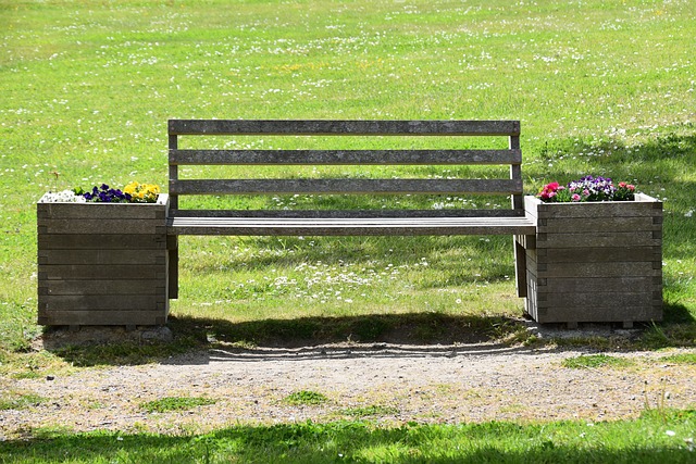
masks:
[[[171,150],[178,165],[520,164],[520,150]]]

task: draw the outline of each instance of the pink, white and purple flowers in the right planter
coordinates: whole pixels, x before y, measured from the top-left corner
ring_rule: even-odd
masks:
[[[580,201],[632,201],[635,186],[624,181],[618,186],[608,177],[585,176],[580,180],[571,180],[567,186],[558,183],[545,185],[538,198],[549,202]]]

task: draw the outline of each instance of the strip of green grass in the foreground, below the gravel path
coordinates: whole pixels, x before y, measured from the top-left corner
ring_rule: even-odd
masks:
[[[7,463],[691,463],[696,413],[635,421],[461,425],[365,422],[235,426],[206,435],[47,431],[0,442]],[[663,422],[663,418],[667,422]]]

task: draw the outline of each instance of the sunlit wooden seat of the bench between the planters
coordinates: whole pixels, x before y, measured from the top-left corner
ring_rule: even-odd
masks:
[[[529,235],[525,217],[231,218],[173,217],[172,235]]]

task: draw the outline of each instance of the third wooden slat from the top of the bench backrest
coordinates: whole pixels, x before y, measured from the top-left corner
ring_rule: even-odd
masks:
[[[171,180],[172,195],[457,195],[522,192],[521,179],[201,179]]]

